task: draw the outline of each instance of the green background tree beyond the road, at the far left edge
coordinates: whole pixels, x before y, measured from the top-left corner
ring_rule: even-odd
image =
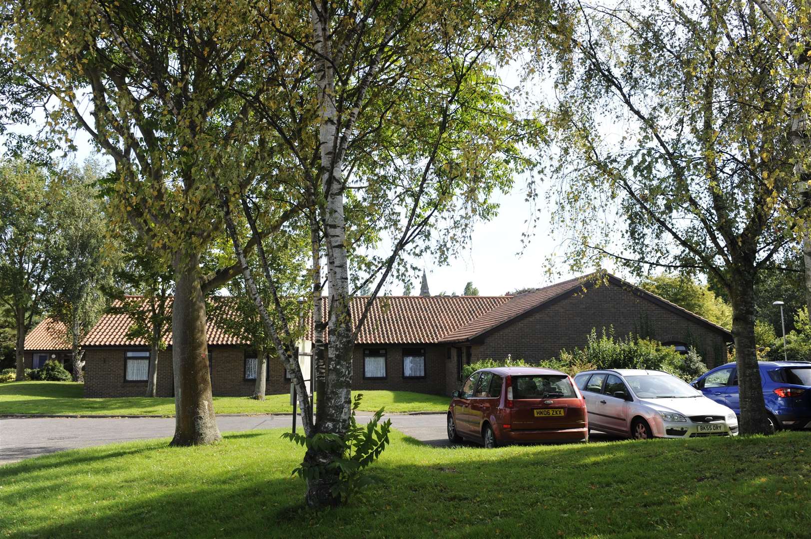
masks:
[[[56,232],[53,185],[44,170],[0,165],[0,302],[14,320],[17,380],[25,379],[25,336],[42,313]]]

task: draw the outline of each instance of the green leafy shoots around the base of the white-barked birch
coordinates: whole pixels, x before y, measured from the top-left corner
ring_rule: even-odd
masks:
[[[380,457],[389,443],[388,433],[392,430],[390,419],[380,424],[380,418],[383,417],[384,412],[382,408],[375,412],[366,426],[358,426],[358,422],[355,420],[355,410],[360,406],[362,398],[363,393],[354,396],[350,428],[343,436],[319,433],[308,438],[304,434],[290,432],[281,435],[282,438],[307,447],[307,451],[341,455],[340,458],[333,459],[328,464],[303,462],[293,470],[293,475],[298,475],[307,481],[337,473],[338,481],[333,486],[332,495],[341,502],[345,502],[371,482],[367,477],[361,475],[361,471]]]

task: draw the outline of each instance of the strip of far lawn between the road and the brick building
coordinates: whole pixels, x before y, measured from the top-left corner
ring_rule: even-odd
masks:
[[[361,391],[363,411],[388,413],[442,412],[450,399],[410,391]],[[268,395],[260,402],[247,397],[214,397],[217,413],[290,413],[290,395]],[[84,399],[82,384],[74,382],[8,382],[0,383],[0,413],[28,414],[149,414],[174,415],[174,399],[119,397]]]

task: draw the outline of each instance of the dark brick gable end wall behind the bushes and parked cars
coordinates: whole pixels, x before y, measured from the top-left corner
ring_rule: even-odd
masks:
[[[692,342],[710,368],[726,362],[719,332],[616,284],[588,289],[492,332],[474,347],[474,361],[507,354],[533,362],[549,359],[560,349],[582,348],[592,327],[601,332],[611,325],[618,337],[642,332],[662,342]]]

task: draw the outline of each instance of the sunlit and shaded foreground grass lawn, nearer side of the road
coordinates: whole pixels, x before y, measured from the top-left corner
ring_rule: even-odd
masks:
[[[435,448],[395,432],[346,507],[303,509],[281,430],[0,466],[14,537],[809,537],[811,434]]]

